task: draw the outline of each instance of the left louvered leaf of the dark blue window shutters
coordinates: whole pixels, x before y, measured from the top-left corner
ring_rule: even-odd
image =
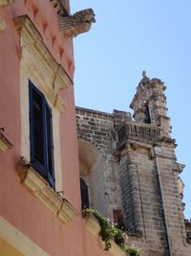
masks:
[[[41,175],[47,176],[45,99],[30,81],[31,162]]]

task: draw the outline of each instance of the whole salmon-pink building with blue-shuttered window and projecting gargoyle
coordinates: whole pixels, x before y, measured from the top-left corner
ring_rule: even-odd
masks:
[[[94,13],[69,12],[68,1],[0,0],[1,256],[123,255],[81,216],[72,37]]]

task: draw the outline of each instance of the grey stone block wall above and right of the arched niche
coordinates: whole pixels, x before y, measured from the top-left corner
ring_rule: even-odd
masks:
[[[112,221],[113,210],[121,209],[118,166],[113,154],[116,128],[123,120],[129,120],[130,114],[117,110],[108,114],[81,107],[76,107],[75,111],[78,141],[89,143],[96,151],[96,161],[90,170],[91,207]]]

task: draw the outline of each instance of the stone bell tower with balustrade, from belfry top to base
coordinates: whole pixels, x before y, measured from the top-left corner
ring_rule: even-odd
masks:
[[[118,175],[125,229],[142,255],[191,255],[181,206],[180,173],[164,83],[146,73],[130,105],[134,120],[117,129]]]

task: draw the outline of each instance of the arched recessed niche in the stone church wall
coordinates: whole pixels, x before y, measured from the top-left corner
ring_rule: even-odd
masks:
[[[104,158],[91,143],[84,140],[78,140],[78,154],[82,209],[94,208],[106,216]]]

